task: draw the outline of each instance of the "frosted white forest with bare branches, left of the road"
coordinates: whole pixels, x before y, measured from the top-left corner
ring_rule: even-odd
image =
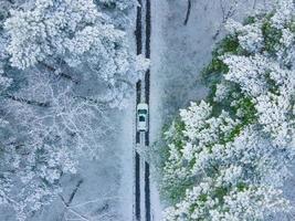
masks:
[[[112,109],[124,108],[137,80],[126,34],[134,2],[0,3],[0,203],[32,220],[115,133]]]

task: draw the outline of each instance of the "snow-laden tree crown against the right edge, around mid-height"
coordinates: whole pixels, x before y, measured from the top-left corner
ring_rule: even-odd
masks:
[[[223,61],[230,70],[224,78],[241,85],[242,92],[251,97],[264,129],[281,146],[294,139],[295,71],[259,54],[231,55]]]

